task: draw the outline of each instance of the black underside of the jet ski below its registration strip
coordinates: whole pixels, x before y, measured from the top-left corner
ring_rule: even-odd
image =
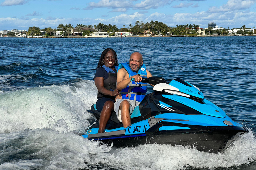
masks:
[[[90,140],[99,140],[113,147],[135,147],[144,144],[170,144],[196,148],[199,151],[217,153],[226,149],[241,133],[201,133],[201,134],[161,134],[161,135],[130,135],[106,136],[101,138],[88,137]]]

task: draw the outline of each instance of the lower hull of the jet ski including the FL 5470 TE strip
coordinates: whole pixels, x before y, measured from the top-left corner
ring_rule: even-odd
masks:
[[[147,122],[150,122],[149,120]],[[176,130],[168,130],[174,127]],[[177,127],[180,127],[181,130],[177,130],[179,129]],[[145,132],[140,133],[142,131]],[[129,134],[129,132],[132,134]],[[162,120],[147,130],[145,126],[137,126],[135,124],[124,130],[83,136],[89,140],[99,140],[109,145],[113,144],[113,147],[134,147],[157,143],[189,146],[199,151],[216,153],[226,149],[244,133],[248,133],[248,130],[242,126],[207,127],[165,122],[165,120]]]

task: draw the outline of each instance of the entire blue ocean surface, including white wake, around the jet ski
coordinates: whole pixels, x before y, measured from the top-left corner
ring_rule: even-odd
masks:
[[[196,85],[249,129],[222,153],[186,146],[113,148],[77,135],[97,100],[101,52],[141,52],[154,76]],[[0,169],[256,169],[256,37],[0,38]],[[149,92],[152,88],[149,87]]]

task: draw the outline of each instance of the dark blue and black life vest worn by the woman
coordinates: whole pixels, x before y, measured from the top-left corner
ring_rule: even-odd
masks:
[[[116,72],[113,71],[111,68],[103,65],[102,66],[108,73],[108,78],[103,80],[103,83],[104,83],[104,88],[106,88],[107,90],[110,90],[110,91],[114,91],[116,89]],[[118,67],[115,66],[115,69],[117,70]],[[115,98],[113,96],[107,96],[107,95],[104,95],[100,92],[98,92],[98,95],[97,95],[97,98],[102,98],[102,97],[108,97],[108,98]]]

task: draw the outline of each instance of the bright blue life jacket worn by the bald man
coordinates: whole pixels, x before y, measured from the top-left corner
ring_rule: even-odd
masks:
[[[120,63],[118,66],[118,69],[125,68],[125,70],[129,74],[129,78],[134,76],[134,75],[140,75],[141,77],[147,77],[147,71],[146,71],[146,66],[143,64],[141,68],[139,69],[138,73],[133,72],[129,66],[129,63]],[[129,99],[129,100],[134,100],[141,102],[144,97],[146,96],[147,92],[147,83],[141,83],[141,82],[135,82],[131,81],[128,86],[121,91],[122,99]]]

